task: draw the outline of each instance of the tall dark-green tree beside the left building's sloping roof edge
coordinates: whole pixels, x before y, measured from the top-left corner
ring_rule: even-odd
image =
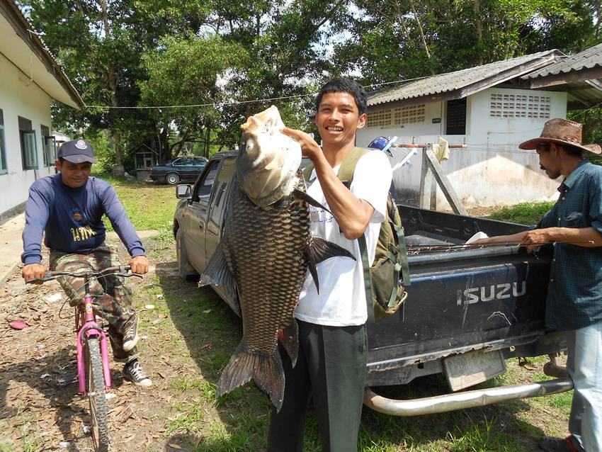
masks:
[[[146,78],[140,56],[156,47],[162,35],[186,29],[189,22],[200,26],[205,20],[203,3],[171,4],[167,0],[31,0],[21,4],[89,106],[79,112],[57,105],[52,111],[55,123],[68,132],[109,130],[117,165],[123,163],[123,137],[157,135],[149,111],[122,108],[136,106],[140,99],[138,81]]]

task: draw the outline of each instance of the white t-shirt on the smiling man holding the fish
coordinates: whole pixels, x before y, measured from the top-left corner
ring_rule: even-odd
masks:
[[[334,173],[339,173],[339,166]],[[392,169],[389,159],[383,152],[370,151],[364,154],[356,164],[351,182],[351,192],[359,199],[370,203],[374,214],[366,229],[368,259],[374,261],[380,223],[385,220],[387,193],[391,185]],[[315,171],[309,178],[311,185],[307,194],[328,207]],[[317,264],[320,291],[317,293],[314,278],[309,270],[305,275],[299,304],[295,308],[295,317],[303,322],[335,327],[348,327],[364,324],[368,319],[366,310],[363,267],[358,241],[348,240],[339,230],[333,215],[309,206],[312,220],[312,235],[322,237],[348,249],[356,260],[336,256]]]

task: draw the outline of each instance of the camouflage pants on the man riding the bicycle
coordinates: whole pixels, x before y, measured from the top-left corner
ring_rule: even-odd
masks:
[[[50,250],[52,271],[100,271],[118,265],[117,249],[105,243],[86,254],[67,254]],[[83,278],[65,276],[57,281],[71,300],[72,306],[84,303],[84,290],[78,290],[84,284]],[[109,324],[107,333],[115,361],[129,362],[137,358],[136,347],[130,351],[123,350],[125,327],[129,322],[136,320],[136,312],[132,308],[132,290],[125,286],[122,278],[111,275],[90,281],[90,293],[93,295],[94,314]]]

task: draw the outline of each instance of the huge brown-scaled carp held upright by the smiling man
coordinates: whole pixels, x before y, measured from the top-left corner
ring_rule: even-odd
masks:
[[[242,126],[222,240],[200,278],[238,298],[242,341],[230,358],[217,397],[253,379],[280,410],[284,371],[278,338],[295,366],[297,322],[293,310],[309,269],[316,286],[316,264],[345,249],[312,237],[309,204],[324,208],[305,193],[301,147],[280,132],[276,106],[251,116]],[[325,208],[324,208],[325,209]]]

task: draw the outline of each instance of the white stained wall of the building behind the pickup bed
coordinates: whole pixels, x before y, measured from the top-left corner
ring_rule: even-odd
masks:
[[[489,88],[467,98],[466,135],[444,135],[445,102],[433,102],[425,106],[424,123],[363,128],[358,130],[357,145],[367,146],[378,136],[397,136],[397,142],[403,144],[436,143],[443,137],[450,145],[467,145],[450,149],[449,160],[441,166],[462,203],[468,207],[509,205],[555,196],[559,181],[550,180],[540,170],[537,153],[518,149],[518,143],[540,135],[547,118],[492,118],[492,94],[549,97],[549,118],[566,118],[567,115],[566,93]],[[441,123],[433,124],[433,118],[441,118]],[[421,149],[416,150],[409,165],[394,171],[400,202],[418,200],[422,157]],[[392,165],[408,152],[409,149],[392,149]],[[449,208],[440,189],[437,208]]]

